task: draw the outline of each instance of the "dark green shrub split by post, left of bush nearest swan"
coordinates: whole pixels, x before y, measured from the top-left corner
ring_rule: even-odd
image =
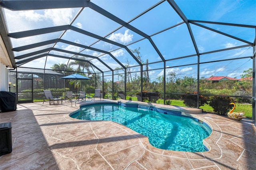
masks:
[[[193,95],[191,95],[193,94]],[[197,107],[197,92],[194,93],[186,93],[186,95],[182,95],[181,99],[183,100],[184,105],[187,107]],[[207,98],[199,95],[199,107],[203,106],[207,103]]]

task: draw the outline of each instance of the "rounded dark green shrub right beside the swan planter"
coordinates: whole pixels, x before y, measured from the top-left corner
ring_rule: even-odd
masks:
[[[215,113],[220,115],[227,115],[230,109],[232,109],[231,102],[234,100],[231,97],[226,96],[213,96],[210,97],[209,105],[213,108]]]

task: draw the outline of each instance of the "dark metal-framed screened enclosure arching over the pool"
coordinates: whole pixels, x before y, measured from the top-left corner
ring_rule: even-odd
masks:
[[[44,89],[60,96],[101,89],[106,99],[197,108],[226,97],[249,105],[255,121],[256,1],[1,0],[0,7],[18,103],[42,100]],[[90,80],[60,79],[74,73]]]

